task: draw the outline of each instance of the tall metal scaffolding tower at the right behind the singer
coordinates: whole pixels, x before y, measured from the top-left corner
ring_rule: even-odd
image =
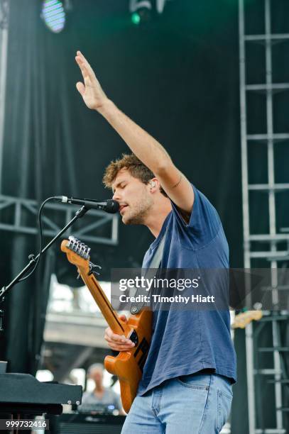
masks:
[[[276,221],[276,198],[280,192],[289,192],[289,182],[276,182],[275,152],[276,146],[288,142],[289,131],[276,132],[274,121],[274,96],[277,92],[288,91],[289,83],[273,82],[274,56],[273,46],[289,40],[289,33],[272,33],[272,7],[273,1],[259,0],[263,11],[262,34],[246,34],[246,8],[250,7],[249,2],[239,0],[239,72],[240,72],[240,106],[241,106],[241,174],[242,174],[242,195],[243,195],[243,218],[244,218],[244,267],[254,267],[255,260],[267,260],[271,269],[277,269],[285,265],[289,260],[289,230],[278,227]],[[274,2],[274,6],[277,6]],[[257,24],[256,24],[257,26]],[[256,29],[255,29],[256,30]],[[289,28],[288,28],[289,30]],[[257,30],[258,32],[258,30]],[[247,58],[249,45],[263,45],[265,58],[264,67],[266,82],[249,83],[248,71],[250,62]],[[248,112],[250,101],[248,95],[252,93],[263,94],[264,113],[266,113],[266,132],[249,133]],[[278,113],[277,113],[278,114]],[[273,116],[274,115],[274,116]],[[251,147],[259,146],[266,150],[266,177],[265,183],[251,183],[249,150]],[[265,148],[264,148],[265,147]],[[261,152],[261,151],[260,151]],[[265,168],[265,167],[264,167]],[[289,179],[288,179],[289,181]],[[255,194],[267,195],[268,233],[252,233],[252,191]],[[255,196],[256,197],[256,196]],[[259,198],[259,196],[258,196]],[[263,199],[262,199],[263,200]],[[256,223],[256,222],[255,222]],[[271,300],[272,306],[276,309],[264,312],[264,316],[258,323],[250,323],[246,327],[246,372],[248,391],[248,412],[249,412],[249,434],[255,433],[286,433],[284,423],[284,412],[289,408],[284,405],[285,389],[289,380],[285,375],[284,355],[288,354],[288,347],[282,346],[280,342],[280,324],[288,321],[288,311],[278,311],[278,296],[280,282],[276,280],[276,273],[271,272]],[[284,286],[284,285],[283,285]],[[287,285],[288,286],[288,285]],[[289,289],[289,286],[283,289]],[[266,327],[266,329],[265,329]],[[264,332],[266,330],[266,332]],[[270,347],[260,346],[260,336],[270,330]],[[261,366],[261,355],[271,353],[271,366],[266,369]],[[266,415],[263,414],[261,396],[263,393],[258,389],[260,379],[267,379],[267,384],[273,386],[273,397],[275,401],[275,426],[266,425]],[[261,395],[261,396],[260,396]]]

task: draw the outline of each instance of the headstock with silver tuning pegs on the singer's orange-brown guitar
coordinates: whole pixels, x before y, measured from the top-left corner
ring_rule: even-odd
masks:
[[[82,241],[70,236],[68,240],[62,241],[61,250],[66,253],[69,262],[79,269],[89,271],[89,252],[91,249]]]

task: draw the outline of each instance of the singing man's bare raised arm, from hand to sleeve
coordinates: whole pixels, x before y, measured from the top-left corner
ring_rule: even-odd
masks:
[[[170,199],[182,211],[190,213],[194,191],[187,178],[175,167],[168,152],[107,98],[92,67],[80,51],[77,51],[75,60],[84,80],[84,83],[77,82],[76,87],[87,107],[97,110],[107,119],[136,157],[156,175]]]

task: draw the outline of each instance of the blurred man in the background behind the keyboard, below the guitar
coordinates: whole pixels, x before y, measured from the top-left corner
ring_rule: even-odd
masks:
[[[101,363],[94,363],[88,368],[88,377],[94,381],[94,390],[84,392],[82,404],[77,410],[82,413],[112,413],[121,412],[122,406],[119,396],[108,387],[104,387],[104,367]]]

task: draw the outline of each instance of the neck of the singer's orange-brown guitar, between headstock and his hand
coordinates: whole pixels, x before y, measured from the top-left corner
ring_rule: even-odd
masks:
[[[80,269],[79,271],[84,284],[86,284],[90,294],[92,294],[94,301],[97,303],[97,306],[99,306],[111,330],[119,335],[126,335],[131,328],[126,325],[124,321],[119,319],[119,316],[111,307],[109,299],[104,294],[102,286],[100,286],[99,282],[97,282],[97,279],[94,277],[94,274],[82,273]]]

